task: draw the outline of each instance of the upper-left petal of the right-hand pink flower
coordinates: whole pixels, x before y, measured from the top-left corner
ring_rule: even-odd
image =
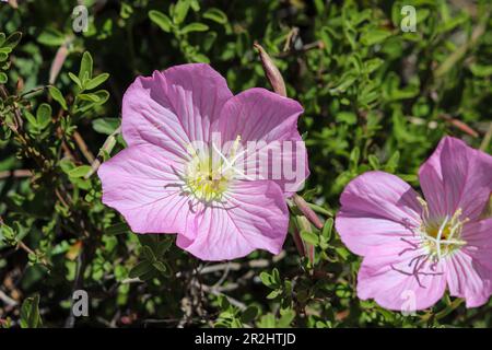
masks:
[[[341,195],[336,228],[343,243],[365,256],[374,247],[412,237],[420,225],[417,192],[399,177],[368,172],[354,178]]]

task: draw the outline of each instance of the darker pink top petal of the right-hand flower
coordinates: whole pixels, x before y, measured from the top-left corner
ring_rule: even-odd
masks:
[[[492,156],[444,138],[419,173],[431,215],[453,215],[460,208],[464,218],[478,218],[492,191],[491,174]]]

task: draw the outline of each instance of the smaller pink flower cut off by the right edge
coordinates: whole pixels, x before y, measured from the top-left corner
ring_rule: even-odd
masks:
[[[363,256],[358,295],[390,310],[432,306],[446,285],[467,307],[492,293],[492,156],[446,137],[420,168],[425,200],[397,176],[368,172],[341,196],[336,226]]]

